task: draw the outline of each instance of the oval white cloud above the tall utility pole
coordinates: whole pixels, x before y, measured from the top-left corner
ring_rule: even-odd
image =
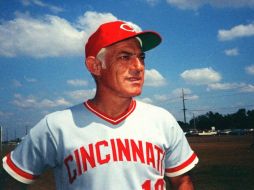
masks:
[[[221,80],[221,75],[212,68],[186,70],[181,73],[181,77],[186,82],[196,85],[211,84]]]

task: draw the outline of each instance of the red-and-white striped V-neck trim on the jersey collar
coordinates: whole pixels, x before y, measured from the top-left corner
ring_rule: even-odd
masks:
[[[88,100],[84,103],[85,107],[93,112],[95,115],[97,115],[98,117],[100,117],[103,120],[106,120],[107,122],[113,124],[113,125],[117,125],[119,123],[121,123],[123,120],[125,120],[136,108],[136,101],[132,100],[131,104],[128,108],[128,110],[126,110],[125,112],[123,112],[122,114],[120,114],[118,117],[116,118],[112,118],[110,116],[107,116],[105,113],[100,112],[94,105],[93,103]]]

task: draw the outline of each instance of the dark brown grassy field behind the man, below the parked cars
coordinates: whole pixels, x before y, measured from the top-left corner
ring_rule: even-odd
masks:
[[[192,171],[196,190],[254,189],[252,136],[189,137],[188,139],[200,159],[199,164]],[[6,152],[7,148],[4,148],[4,151]],[[46,172],[28,189],[54,190],[52,173]]]

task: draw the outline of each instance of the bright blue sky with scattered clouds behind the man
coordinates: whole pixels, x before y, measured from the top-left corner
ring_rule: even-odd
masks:
[[[183,121],[254,109],[254,1],[0,1],[0,125],[22,136],[45,114],[91,98],[84,43],[105,21],[155,30],[139,100]],[[230,127],[230,126],[229,126]],[[7,134],[8,133],[8,134]]]

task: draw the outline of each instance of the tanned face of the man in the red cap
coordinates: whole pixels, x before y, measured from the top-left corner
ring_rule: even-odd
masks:
[[[103,93],[118,97],[140,95],[144,83],[144,56],[135,38],[107,47],[106,68],[101,70],[98,87]]]

